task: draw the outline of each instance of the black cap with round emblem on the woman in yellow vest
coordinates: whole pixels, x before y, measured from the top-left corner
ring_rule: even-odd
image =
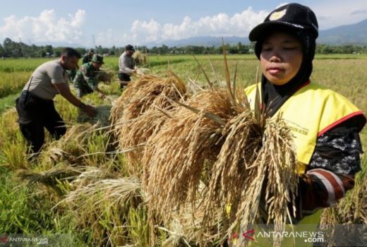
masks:
[[[272,11],[263,23],[251,30],[248,39],[258,41],[266,35],[269,28],[290,28],[309,32],[314,39],[318,37],[318,20],[315,13],[301,4],[287,4]]]

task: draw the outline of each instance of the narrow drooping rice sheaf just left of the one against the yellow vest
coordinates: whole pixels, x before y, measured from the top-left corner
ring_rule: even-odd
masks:
[[[241,193],[246,189],[248,167],[253,165],[261,147],[262,130],[259,128],[253,112],[246,110],[228,121],[222,131],[225,141],[212,169],[207,203],[210,207],[231,203],[231,212],[236,212]],[[231,215],[233,218],[234,215]]]

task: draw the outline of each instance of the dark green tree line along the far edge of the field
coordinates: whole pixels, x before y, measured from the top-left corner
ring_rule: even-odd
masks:
[[[28,45],[23,42],[14,42],[13,40],[6,38],[3,44],[0,44],[0,57],[52,57],[60,56],[63,47],[52,47],[52,45],[37,46],[35,44]],[[104,54],[109,56],[117,56],[124,52],[124,47],[102,47],[96,46],[95,53]],[[186,47],[168,47],[162,44],[160,47],[136,47],[140,52],[148,52],[149,54],[222,54],[221,46],[195,46],[188,45]],[[253,44],[226,44],[226,49],[229,54],[253,54]],[[85,54],[88,49],[79,47],[76,48],[80,54]],[[317,44],[316,54],[367,54],[366,46],[359,45],[339,45],[331,46],[328,44]]]

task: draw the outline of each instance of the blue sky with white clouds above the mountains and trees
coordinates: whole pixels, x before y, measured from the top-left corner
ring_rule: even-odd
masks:
[[[290,1],[291,2],[291,1]],[[0,0],[0,43],[123,47],[197,36],[248,37],[287,1],[244,0]],[[310,7],[320,30],[367,18],[366,0],[297,1]]]

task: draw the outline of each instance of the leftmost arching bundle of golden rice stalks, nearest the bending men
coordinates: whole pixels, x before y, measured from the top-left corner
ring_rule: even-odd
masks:
[[[167,118],[157,109],[172,111],[172,100],[185,97],[186,87],[176,76],[158,78],[145,76],[136,80],[124,91],[112,108],[111,119],[119,149],[125,150],[144,144],[149,136],[157,131]],[[138,175],[140,152],[128,154],[127,167]],[[138,162],[140,163],[140,162]],[[136,168],[134,168],[136,167]]]

